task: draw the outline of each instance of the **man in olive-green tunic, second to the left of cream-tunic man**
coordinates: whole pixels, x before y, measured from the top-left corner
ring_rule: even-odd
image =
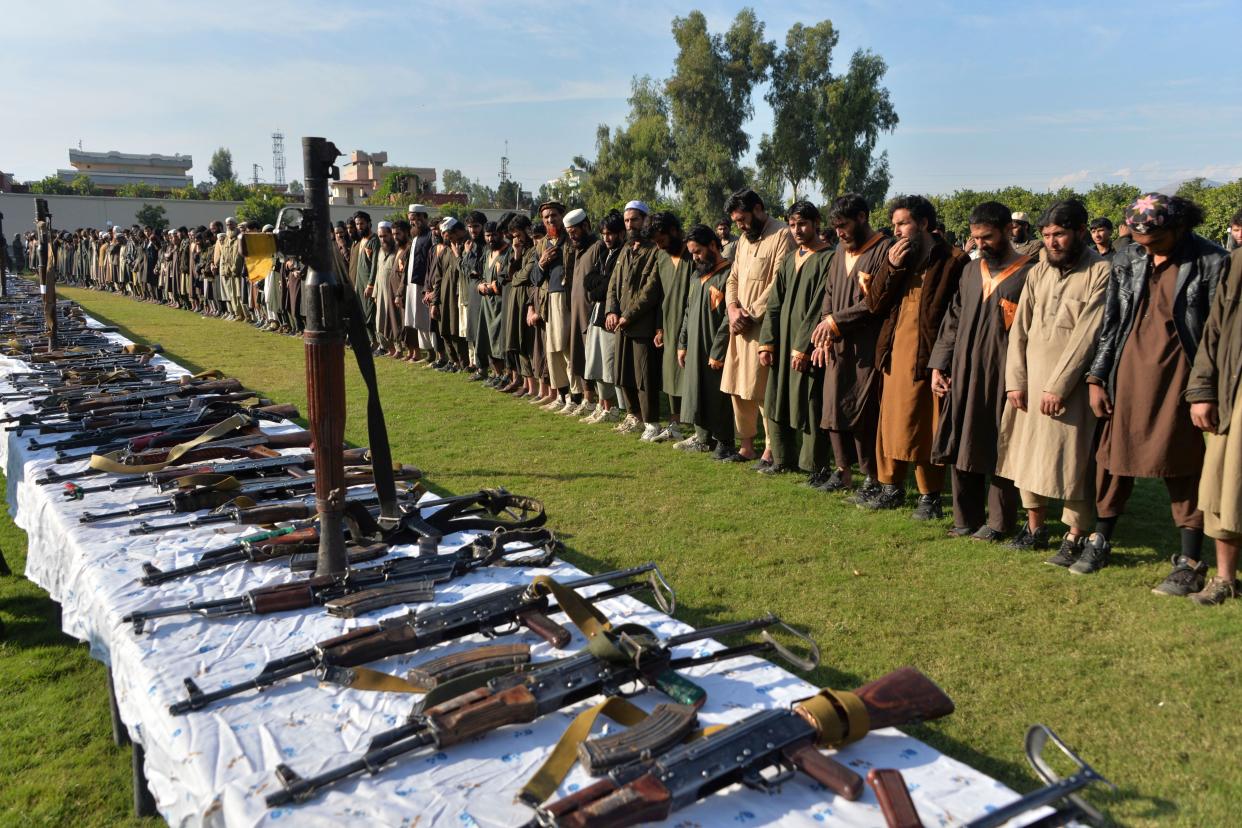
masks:
[[[651,241],[660,248],[660,289],[664,298],[660,307],[656,328],[656,348],[662,349],[660,360],[661,384],[668,397],[668,425],[651,442],[681,442],[686,436],[681,430],[682,366],[677,360],[677,340],[682,318],[686,315],[686,295],[691,286],[691,257],[686,252],[681,220],[671,212],[657,212],[647,227]]]

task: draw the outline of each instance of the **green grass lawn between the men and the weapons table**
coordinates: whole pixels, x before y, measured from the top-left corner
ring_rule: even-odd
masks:
[[[306,410],[297,339],[62,293],[189,369],[220,369]],[[364,391],[349,376],[347,437],[365,444]],[[1117,823],[1232,823],[1242,602],[1200,608],[1149,592],[1177,549],[1161,485],[1139,485],[1113,566],[1074,577],[1042,554],[949,540],[948,521],[863,514],[799,478],[619,437],[460,375],[383,360],[379,376],[394,459],[438,490],[504,485],[543,499],[584,569],[658,561],[693,624],[776,612],[818,641],[817,684],[918,667],[958,711],[912,732],[1015,788],[1036,786],[1022,735],[1046,722],[1119,786],[1089,796]],[[20,571],[21,533],[7,519],[0,542]],[[111,742],[103,668],[58,634],[56,606],[24,580],[0,578],[0,819],[124,824],[129,752]]]

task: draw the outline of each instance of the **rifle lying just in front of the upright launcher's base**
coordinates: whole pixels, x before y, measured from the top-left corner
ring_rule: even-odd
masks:
[[[134,627],[134,634],[142,634],[145,623],[153,618],[199,614],[204,618],[224,618],[241,614],[268,614],[289,610],[338,602],[347,596],[350,614],[358,614],[363,608],[360,601],[370,601],[364,611],[391,606],[399,597],[406,603],[424,603],[435,597],[435,585],[458,578],[477,569],[493,565],[543,567],[551,562],[559,547],[556,539],[546,529],[518,530],[510,538],[499,535],[476,541],[447,554],[420,555],[419,557],[397,557],[376,566],[345,570],[344,575],[315,575],[291,583],[277,583],[251,590],[245,595],[215,601],[190,601],[173,607],[138,610],[122,618]],[[537,542],[533,554],[519,554],[507,557],[507,544],[530,549]],[[411,588],[407,585],[414,585]],[[400,586],[394,591],[392,586]],[[389,587],[389,588],[385,588]],[[368,595],[371,593],[371,595]],[[376,600],[373,600],[376,598]],[[376,606],[378,605],[378,606]],[[339,614],[339,613],[333,613]]]

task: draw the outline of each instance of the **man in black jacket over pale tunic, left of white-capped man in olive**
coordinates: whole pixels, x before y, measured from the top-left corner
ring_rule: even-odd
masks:
[[[587,271],[582,279],[586,298],[591,303],[590,326],[586,329],[582,343],[585,350],[582,379],[587,385],[594,384],[599,395],[599,405],[595,411],[582,418],[582,422],[590,425],[615,423],[621,420],[615,385],[616,336],[605,329],[605,323],[607,319],[609,282],[623,246],[625,218],[614,210],[600,222],[599,250],[595,253],[600,257],[600,266]]]

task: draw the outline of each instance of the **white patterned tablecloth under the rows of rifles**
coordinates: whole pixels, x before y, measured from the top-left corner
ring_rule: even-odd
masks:
[[[175,365],[164,364],[170,374],[184,372]],[[20,361],[0,359],[0,380],[24,370]],[[0,382],[2,390],[7,390],[6,382]],[[10,403],[5,411],[24,410],[30,408]],[[378,776],[350,780],[302,806],[267,809],[263,797],[278,785],[273,775],[277,763],[286,762],[308,776],[351,760],[373,735],[401,722],[415,696],[320,686],[308,675],[282,682],[261,694],[245,693],[204,711],[171,716],[168,705],[185,695],[183,678],[193,677],[204,690],[241,682],[271,658],[306,649],[317,641],[405,610],[359,619],[338,619],[319,611],[217,621],[183,617],[155,621],[147,634],[135,636],[120,622],[129,611],[237,595],[262,583],[288,580],[288,569],[282,564],[230,566],[158,587],[143,587],[135,578],[144,561],[153,561],[160,569],[185,565],[202,550],[225,545],[252,529],[202,528],[130,536],[127,529],[133,519],[81,525],[77,518],[82,511],[123,506],[153,497],[153,490],[128,489],[87,495],[83,502],[65,502],[60,487],[34,483],[53,467],[51,452],[30,451],[27,439],[29,434],[9,434],[0,441],[10,508],[17,525],[30,536],[26,576],[61,603],[65,632],[88,642],[92,655],[111,665],[120,718],[133,740],[145,750],[150,791],[170,824],[499,827],[529,818],[530,812],[513,802],[514,794],[545,758],[569,719],[585,704],[529,726],[503,729],[445,751],[407,756]],[[55,468],[67,473],[75,467]],[[492,487],[503,485],[504,480],[478,483]],[[523,494],[539,497],[538,492]],[[550,525],[555,528],[556,515],[550,515]],[[451,538],[447,541],[452,542],[446,546],[465,540]],[[399,547],[394,554],[412,555],[415,550]],[[564,562],[543,571],[559,578],[584,575]],[[483,570],[443,585],[436,601],[452,602],[502,585],[529,582],[535,574]],[[614,619],[642,623],[661,634],[689,629],[633,598],[617,598],[601,607]],[[476,637],[390,658],[374,667],[404,674],[412,664],[483,641]],[[555,654],[529,633],[515,641],[532,643],[539,659]],[[570,648],[581,646],[575,636]],[[703,646],[687,647],[686,652],[694,652],[694,647]],[[696,668],[687,670],[687,675],[708,691],[700,713],[700,721],[707,725],[734,721],[758,709],[787,706],[816,690],[784,669],[754,658]],[[650,709],[661,699],[658,693],[648,691],[636,701]],[[862,775],[871,767],[902,770],[928,826],[960,824],[1016,796],[990,777],[892,729],[867,736],[840,751],[837,758]],[[589,777],[575,768],[560,794],[587,782]],[[861,801],[846,802],[805,777],[787,782],[779,796],[729,790],[681,812],[671,824],[818,826],[826,822],[883,824],[869,790]]]

